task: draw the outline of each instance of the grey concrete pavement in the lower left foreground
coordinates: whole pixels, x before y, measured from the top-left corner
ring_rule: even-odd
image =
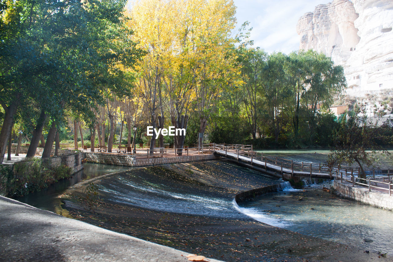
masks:
[[[2,196],[0,239],[2,261],[184,262],[188,255]]]

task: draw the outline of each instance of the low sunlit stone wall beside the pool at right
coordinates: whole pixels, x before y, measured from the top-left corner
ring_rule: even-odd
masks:
[[[334,194],[338,196],[354,199],[376,207],[393,210],[393,196],[389,196],[389,194],[376,191],[369,192],[368,188],[352,186],[350,183],[341,183],[338,180],[334,181],[333,188]]]

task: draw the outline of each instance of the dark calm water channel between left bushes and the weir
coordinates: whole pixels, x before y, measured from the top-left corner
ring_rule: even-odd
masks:
[[[62,210],[62,208],[59,208],[61,202],[58,196],[61,195],[68,187],[93,177],[130,169],[130,167],[127,166],[113,166],[92,163],[84,163],[83,167],[83,170],[75,173],[68,179],[62,179],[39,192],[30,193],[26,196],[17,197],[15,199],[33,207],[51,212],[58,212],[59,210]]]

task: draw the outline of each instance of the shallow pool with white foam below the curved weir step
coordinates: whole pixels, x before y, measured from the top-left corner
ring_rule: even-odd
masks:
[[[239,206],[244,214],[264,223],[393,253],[393,212],[340,199],[318,188],[270,193]]]

